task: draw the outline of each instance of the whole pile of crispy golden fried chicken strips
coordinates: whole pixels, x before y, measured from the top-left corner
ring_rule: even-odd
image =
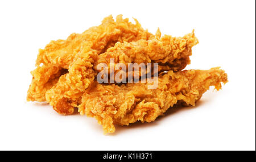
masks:
[[[199,43],[194,32],[183,37],[153,35],[135,19],[108,16],[100,26],[67,40],[51,41],[39,49],[36,69],[27,101],[46,101],[59,114],[77,110],[94,117],[104,133],[115,131],[115,124],[153,122],[174,105],[195,106],[210,86],[221,89],[228,82],[220,68],[183,70],[190,64],[192,47]],[[158,63],[158,87],[150,83],[100,84],[96,80],[100,63]],[[77,109],[78,108],[78,109]]]

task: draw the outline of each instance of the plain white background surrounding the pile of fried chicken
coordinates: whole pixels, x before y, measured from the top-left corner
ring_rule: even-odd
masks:
[[[26,102],[39,48],[110,14],[200,43],[186,69],[220,66],[229,82],[196,107],[104,135],[95,119]],[[1,150],[255,150],[255,1],[1,1]]]

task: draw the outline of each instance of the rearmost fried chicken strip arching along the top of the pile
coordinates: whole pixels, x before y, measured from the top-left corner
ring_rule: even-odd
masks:
[[[100,26],[89,28],[82,34],[71,34],[67,40],[51,41],[46,48],[39,49],[37,68],[31,72],[33,78],[28,89],[27,101],[46,101],[46,91],[56,84],[56,82],[53,84],[49,78],[58,80],[60,76],[55,75],[58,72],[57,69],[68,69],[84,46],[89,46],[94,52],[100,54],[117,41],[149,39],[152,34],[143,30],[136,19],[135,22],[133,24],[129,19],[123,19],[122,15],[118,15],[114,21],[110,15],[102,20]],[[40,67],[40,64],[43,64],[43,67]],[[49,82],[51,84],[47,84]]]

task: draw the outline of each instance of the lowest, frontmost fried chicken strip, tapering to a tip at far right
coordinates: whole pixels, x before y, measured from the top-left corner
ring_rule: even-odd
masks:
[[[180,102],[195,106],[209,86],[219,90],[221,82],[228,82],[227,74],[220,68],[212,68],[160,74],[156,89],[148,89],[148,83],[121,86],[94,83],[82,95],[79,112],[96,118],[105,134],[112,133],[114,124],[153,122]]]

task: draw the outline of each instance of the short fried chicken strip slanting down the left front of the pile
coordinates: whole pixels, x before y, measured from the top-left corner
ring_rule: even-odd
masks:
[[[71,63],[68,73],[46,92],[46,101],[57,113],[72,114],[82,93],[94,81],[96,72],[93,63],[97,59],[97,51],[85,46]]]

